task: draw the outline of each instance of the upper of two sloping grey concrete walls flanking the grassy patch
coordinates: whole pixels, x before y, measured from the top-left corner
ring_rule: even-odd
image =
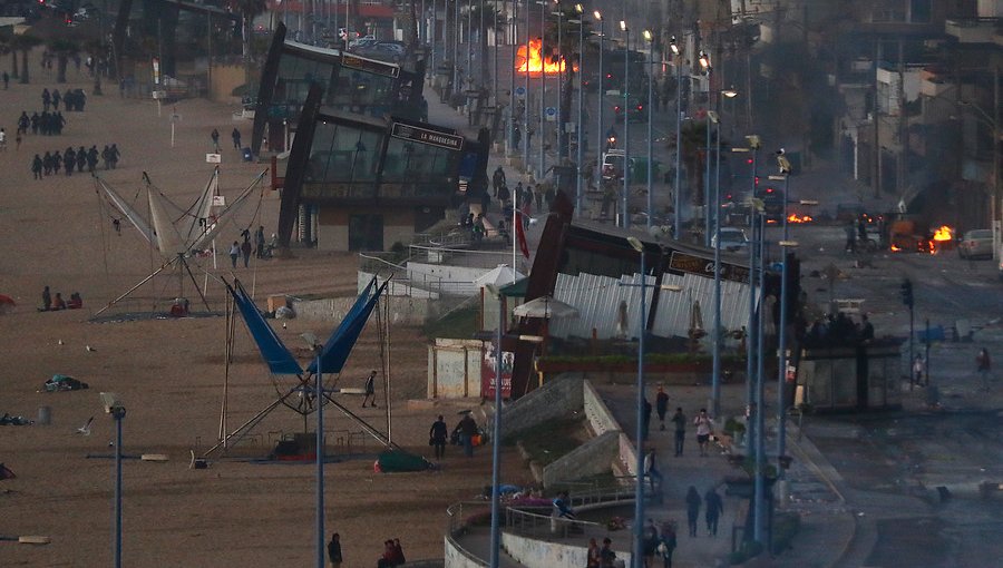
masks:
[[[581,374],[567,373],[506,407],[501,413],[501,439],[580,410],[582,384]]]

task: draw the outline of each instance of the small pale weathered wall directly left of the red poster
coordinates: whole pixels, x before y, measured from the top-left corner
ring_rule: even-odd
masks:
[[[429,399],[480,396],[479,340],[437,339],[428,347]]]

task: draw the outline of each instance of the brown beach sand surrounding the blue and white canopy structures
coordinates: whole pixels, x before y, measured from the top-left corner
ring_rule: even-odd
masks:
[[[4,59],[4,63],[8,59]],[[217,128],[224,143],[222,189],[227,197],[246,187],[266,165],[238,159],[230,131],[240,128],[250,139],[251,123],[235,120],[235,105],[184,100],[158,112],[153,100],[121,99],[106,88],[104,97],[88,96],[85,112],[65,112],[62,136],[28,135],[20,149],[13,133],[21,110],[41,110],[40,92],[67,87],[90,92],[90,80],[69,70],[68,85],[31,58],[32,82],[11,82],[0,91],[0,126],[8,133],[8,149],[0,153],[0,294],[17,306],[0,315],[0,413],[38,418],[40,407],[51,409],[51,425],[0,427],[0,462],[17,479],[0,481],[0,536],[43,535],[48,546],[0,541],[0,566],[107,566],[111,560],[114,439],[110,418],[103,413],[98,393],[117,392],[127,408],[123,448],[126,454],[164,453],[164,463],[126,460],[124,464],[123,558],[126,566],[306,566],[314,558],[313,464],[256,464],[212,460],[205,470],[189,470],[191,449],[211,445],[220,428],[223,398],[225,319],[182,319],[90,323],[94,312],[128,290],[159,264],[139,234],[123,223],[113,232],[109,210],[103,208],[89,175],[62,174],[33,180],[30,160],[46,150],[65,150],[116,143],[121,161],[99,174],[127,199],[143,203],[142,174],[178,204],[187,206],[210,178],[206,164],[210,133]],[[6,65],[4,65],[6,67]],[[176,112],[172,147],[171,116]],[[264,306],[269,294],[353,295],[354,255],[295,251],[293,258],[255,261],[251,268],[230,268],[224,243],[240,228],[259,224],[274,232],[277,194],[255,195],[238,223],[220,237],[218,268],[203,261],[213,275],[240,277]],[[140,207],[140,209],[144,207]],[[205,276],[196,267],[196,276]],[[214,306],[223,290],[210,280]],[[39,313],[42,286],[68,297],[80,292],[85,309]],[[171,297],[178,284],[156,278],[125,307],[149,310],[153,296]],[[185,295],[197,296],[191,286]],[[163,306],[162,306],[163,309]],[[121,311],[121,310],[119,310]],[[283,341],[309,358],[299,335],[310,331],[325,339],[335,322],[292,320],[276,327]],[[391,336],[393,439],[403,447],[430,454],[427,432],[435,414],[456,422],[457,411],[470,401],[423,405],[427,339],[420,330],[395,326]],[[379,334],[374,325],[363,332],[340,384],[361,386],[371,368],[379,369]],[[89,346],[89,350],[87,349]],[[235,334],[234,365],[228,390],[228,425],[233,428],[274,399],[272,379],[261,363],[243,323]],[[77,392],[40,392],[45,381],[64,373],[89,383]],[[383,396],[382,389],[378,391]],[[358,398],[345,398],[353,409]],[[474,402],[476,404],[476,402]],[[386,429],[383,403],[359,409],[360,415]],[[358,427],[328,412],[329,430]],[[96,417],[89,437],[76,433]],[[313,417],[310,418],[312,430]],[[284,408],[256,429],[256,440],[243,447],[247,456],[264,456],[281,434],[302,431],[302,418]],[[334,434],[338,437],[339,434]],[[343,435],[343,434],[341,434]],[[456,448],[441,471],[381,474],[372,469],[377,445],[367,440],[348,456],[332,448],[342,461],[327,467],[327,533],[339,531],[345,566],[372,566],[387,538],[401,539],[410,559],[441,558],[446,507],[469,499],[490,480],[487,449],[473,460]],[[525,482],[528,473],[506,452],[506,482]]]

